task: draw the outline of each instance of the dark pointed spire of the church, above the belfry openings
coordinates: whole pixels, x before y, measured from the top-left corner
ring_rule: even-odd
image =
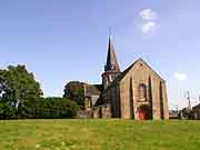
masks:
[[[104,67],[104,71],[117,71],[120,72],[119,63],[116,57],[112,37],[109,37],[109,46],[108,46],[108,56],[107,56],[107,64]]]

